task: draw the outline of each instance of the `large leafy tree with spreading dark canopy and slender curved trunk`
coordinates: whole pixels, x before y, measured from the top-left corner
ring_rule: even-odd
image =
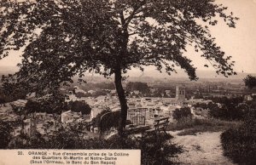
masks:
[[[236,74],[207,25],[215,26],[219,17],[235,27],[238,19],[213,0],[3,0],[0,8],[1,57],[25,48],[11,83],[53,92],[84,71],[114,75],[119,134],[128,108],[122,74],[132,67],[154,65],[171,74],[177,65],[196,80],[195,66],[183,55],[192,45],[217,73]]]

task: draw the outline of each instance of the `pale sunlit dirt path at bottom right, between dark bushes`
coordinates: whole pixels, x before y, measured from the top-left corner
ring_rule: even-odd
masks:
[[[177,162],[181,162],[181,164],[234,165],[227,157],[223,156],[220,132],[185,136],[178,136],[177,132],[170,132],[170,134],[174,136],[172,142],[183,145],[184,152],[177,157]]]

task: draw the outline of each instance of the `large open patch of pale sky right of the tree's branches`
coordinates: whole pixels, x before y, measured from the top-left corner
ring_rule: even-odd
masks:
[[[236,61],[239,72],[256,73],[256,0],[217,0],[229,7],[240,20],[236,28],[219,26],[212,29],[217,43]]]

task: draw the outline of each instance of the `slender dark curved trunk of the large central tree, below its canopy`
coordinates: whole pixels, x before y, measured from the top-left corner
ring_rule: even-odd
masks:
[[[115,84],[115,88],[116,88],[116,91],[117,91],[117,94],[119,97],[119,103],[121,106],[118,132],[119,132],[119,136],[123,136],[128,106],[127,106],[127,101],[125,99],[125,90],[122,86],[121,70],[114,71],[114,84]]]

